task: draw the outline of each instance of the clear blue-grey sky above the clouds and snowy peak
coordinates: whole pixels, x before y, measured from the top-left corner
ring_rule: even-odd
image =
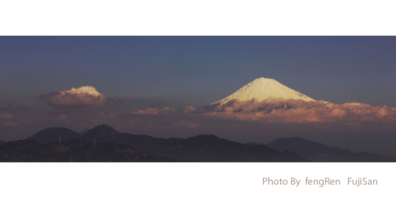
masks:
[[[29,105],[89,85],[136,107],[200,107],[264,77],[313,99],[396,107],[395,54],[396,37],[3,36],[0,98]]]

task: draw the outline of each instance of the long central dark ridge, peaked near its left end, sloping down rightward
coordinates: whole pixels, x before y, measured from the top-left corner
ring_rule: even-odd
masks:
[[[57,133],[56,133],[57,134]],[[62,136],[61,136],[62,137]],[[43,138],[42,138],[43,139]],[[213,135],[192,138],[154,138],[147,135],[120,133],[108,125],[85,130],[74,139],[93,143],[127,145],[150,155],[182,161],[202,162],[299,162],[309,161],[293,152],[279,152],[264,146],[245,145]],[[62,138],[62,140],[64,140]],[[39,141],[40,142],[40,141]]]

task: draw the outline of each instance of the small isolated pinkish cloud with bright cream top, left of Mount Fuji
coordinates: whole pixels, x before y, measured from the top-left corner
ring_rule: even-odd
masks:
[[[104,95],[100,94],[91,86],[43,94],[40,96],[40,99],[47,101],[51,105],[57,106],[93,106],[104,105],[107,102]]]

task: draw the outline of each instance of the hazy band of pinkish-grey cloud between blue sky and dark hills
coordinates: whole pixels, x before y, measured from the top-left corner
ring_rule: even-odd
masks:
[[[120,99],[76,90],[42,95],[54,107],[49,110],[18,108],[3,102],[3,140],[15,140],[17,134],[28,137],[49,127],[81,132],[108,124],[123,133],[162,138],[213,134],[241,143],[265,144],[277,138],[301,137],[329,146],[396,156],[396,108],[387,106],[270,100],[234,103],[208,111],[193,106],[127,110],[127,102],[123,104]]]

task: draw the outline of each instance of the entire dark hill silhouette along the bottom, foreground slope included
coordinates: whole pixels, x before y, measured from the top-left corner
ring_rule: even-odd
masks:
[[[60,137],[59,137],[60,136]],[[32,139],[32,140],[31,140]],[[330,148],[301,138],[241,144],[214,135],[154,138],[108,125],[77,133],[48,128],[25,140],[1,143],[0,161],[15,162],[389,162],[395,158]]]

